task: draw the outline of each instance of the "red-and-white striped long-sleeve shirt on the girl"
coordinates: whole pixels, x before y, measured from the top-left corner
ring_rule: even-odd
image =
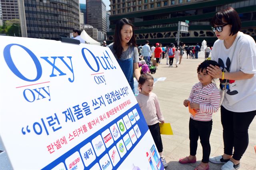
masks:
[[[217,112],[220,106],[220,92],[215,83],[202,86],[201,82],[196,83],[190,92],[188,100],[198,103],[200,108],[196,109],[196,116],[190,114],[190,118],[199,121],[212,120],[212,113]]]

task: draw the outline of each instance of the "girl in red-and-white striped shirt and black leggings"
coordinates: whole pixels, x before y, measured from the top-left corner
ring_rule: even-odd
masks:
[[[190,92],[187,100],[184,100],[185,107],[190,105],[194,109],[196,116],[190,114],[189,120],[189,140],[190,155],[180,158],[182,164],[196,162],[196,150],[198,138],[203,149],[203,158],[195,170],[209,169],[209,156],[211,153],[210,134],[212,131],[212,113],[217,112],[220,106],[220,92],[215,83],[212,83],[213,77],[206,70],[208,66],[217,66],[218,63],[212,60],[202,62],[197,68],[199,82],[196,83]]]

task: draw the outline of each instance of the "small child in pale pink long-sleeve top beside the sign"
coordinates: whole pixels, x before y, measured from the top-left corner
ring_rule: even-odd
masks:
[[[156,144],[156,148],[161,157],[164,167],[167,167],[165,158],[163,157],[163,144],[160,135],[159,121],[164,123],[164,116],[160,111],[160,105],[156,94],[152,92],[154,85],[154,78],[150,74],[141,74],[139,78],[140,94],[136,96],[140,109],[148,124],[150,133]]]

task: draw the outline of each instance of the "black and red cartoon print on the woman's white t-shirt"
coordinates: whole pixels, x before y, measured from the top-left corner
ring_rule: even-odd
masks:
[[[229,58],[229,57],[227,57],[227,60],[226,60],[226,67],[225,67],[224,62],[223,62],[223,60],[222,60],[221,58],[218,58],[218,64],[219,64],[220,67],[222,68],[222,72],[228,72],[228,70],[230,70],[231,61],[230,61],[230,58]],[[224,79],[224,80],[221,80],[221,79],[220,79],[220,83],[225,83],[225,82],[226,82],[226,79]],[[235,82],[235,80],[228,80],[227,82],[228,82],[229,84],[232,84],[232,83]],[[230,91],[230,88],[229,88],[228,85],[227,85],[226,89],[228,90],[228,91],[227,91],[227,94],[229,94],[229,95],[231,95],[231,96],[238,94],[238,91],[237,91],[237,90]]]

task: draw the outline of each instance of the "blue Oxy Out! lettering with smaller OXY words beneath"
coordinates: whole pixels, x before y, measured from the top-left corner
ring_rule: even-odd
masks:
[[[20,48],[21,50],[24,50],[28,56],[33,60],[34,66],[36,68],[35,73],[36,76],[34,78],[28,78],[27,75],[20,70],[18,70],[19,66],[18,63],[14,64],[11,56],[11,51],[12,47],[15,46],[16,49],[17,47]],[[85,54],[86,51],[86,54]],[[105,54],[106,52],[106,54]],[[82,48],[82,56],[84,58],[84,61],[88,65],[88,67],[95,73],[98,73],[100,69],[102,68],[103,70],[112,70],[116,69],[116,66],[114,66],[114,63],[112,62],[112,59],[110,58],[109,54],[107,51],[103,52],[104,56],[95,56],[88,48]],[[88,55],[89,54],[89,55]],[[107,55],[107,56],[106,56]],[[44,60],[44,62],[48,63],[50,65],[50,68],[52,70],[50,71],[49,77],[56,77],[56,76],[68,76],[68,81],[69,82],[74,82],[74,68],[72,64],[72,56],[40,56],[39,59]],[[88,61],[88,58],[93,58],[94,61],[93,63],[90,60]],[[41,63],[39,61],[38,57],[27,47],[22,46],[20,44],[8,44],[4,48],[4,60],[10,70],[20,79],[27,81],[27,82],[36,82],[38,81],[43,73],[43,69],[41,66]],[[17,65],[17,66],[16,66]],[[67,68],[63,69],[64,68]],[[68,75],[67,75],[68,74]],[[96,84],[106,84],[106,79],[104,75],[95,75],[94,76],[94,81]],[[28,102],[34,102],[36,100],[41,100],[41,99],[48,99],[49,101],[51,100],[50,98],[50,86],[43,86],[40,88],[26,88],[23,90],[23,96],[24,99]]]

